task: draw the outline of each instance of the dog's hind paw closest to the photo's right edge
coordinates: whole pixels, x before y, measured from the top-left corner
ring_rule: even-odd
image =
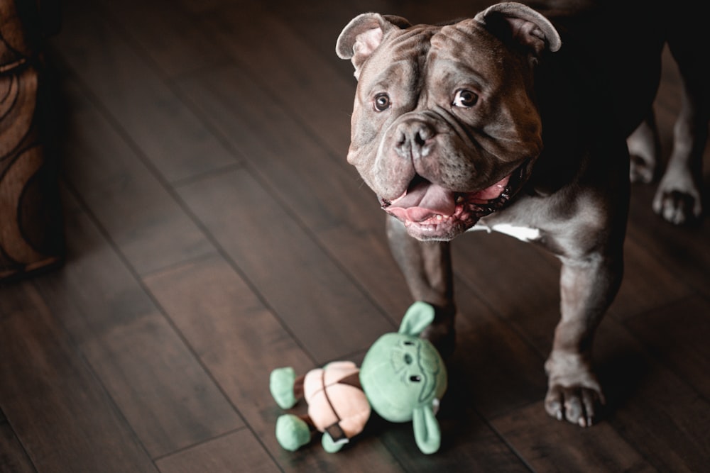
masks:
[[[667,172],[658,184],[653,211],[674,225],[700,218],[702,200],[692,176],[688,172]]]

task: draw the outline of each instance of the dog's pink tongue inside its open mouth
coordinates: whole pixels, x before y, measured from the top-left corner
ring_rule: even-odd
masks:
[[[392,201],[387,211],[400,220],[422,222],[437,215],[452,216],[456,211],[455,195],[431,182],[422,181],[407,194]]]

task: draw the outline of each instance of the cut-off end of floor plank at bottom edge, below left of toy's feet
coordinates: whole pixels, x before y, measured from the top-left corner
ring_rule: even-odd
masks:
[[[155,462],[161,473],[279,472],[258,440],[242,429]]]

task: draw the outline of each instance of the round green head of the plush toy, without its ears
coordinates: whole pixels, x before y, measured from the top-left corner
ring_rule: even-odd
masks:
[[[446,390],[446,369],[427,340],[388,333],[370,348],[360,370],[373,409],[391,422],[412,419],[417,407],[431,405]]]

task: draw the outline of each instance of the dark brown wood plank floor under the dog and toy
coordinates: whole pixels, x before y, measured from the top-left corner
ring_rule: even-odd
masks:
[[[543,412],[556,260],[476,234],[454,243],[469,263],[442,450],[420,455],[409,425],[383,422],[337,455],[280,449],[271,369],[359,360],[410,304],[344,159],[354,79],[335,38],[362,11],[478,11],[294,5],[65,0],[48,57],[68,113],[69,255],[0,288],[0,471],[707,471],[710,221],[667,225],[654,186],[633,189],[626,278],[596,342],[601,423]],[[678,85],[665,62],[666,154]]]

